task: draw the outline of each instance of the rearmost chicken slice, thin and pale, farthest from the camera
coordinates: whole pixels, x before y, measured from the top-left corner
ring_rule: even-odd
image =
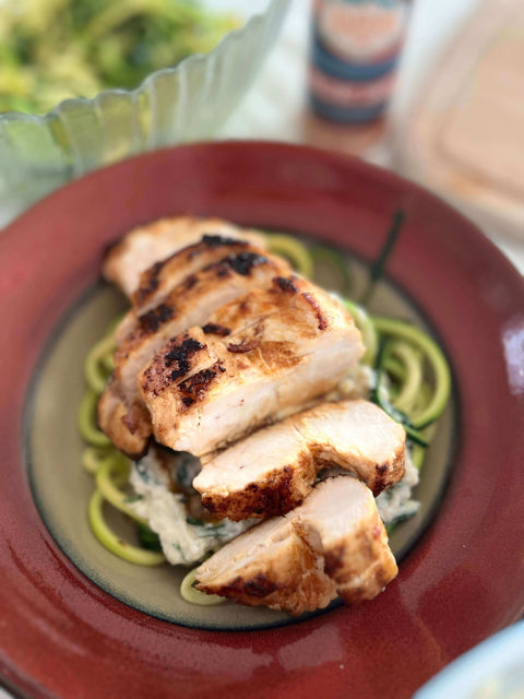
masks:
[[[129,298],[138,288],[142,272],[202,238],[204,234],[242,238],[265,247],[263,235],[240,228],[219,218],[175,216],[160,218],[130,230],[114,245],[104,260],[103,274],[114,282]]]

